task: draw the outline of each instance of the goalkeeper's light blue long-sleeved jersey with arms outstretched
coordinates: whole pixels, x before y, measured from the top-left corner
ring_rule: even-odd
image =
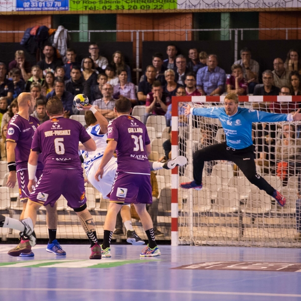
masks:
[[[225,131],[227,145],[241,149],[253,144],[252,122],[291,121],[291,114],[274,114],[238,107],[238,111],[228,116],[222,107],[194,108],[193,115],[218,118]]]

